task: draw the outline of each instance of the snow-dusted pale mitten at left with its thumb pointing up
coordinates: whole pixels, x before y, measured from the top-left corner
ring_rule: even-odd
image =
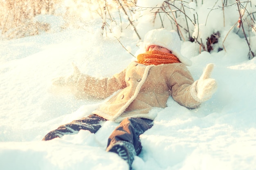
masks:
[[[56,86],[75,86],[81,72],[74,63],[72,63],[72,65],[73,73],[71,75],[55,78],[52,80],[52,84]]]

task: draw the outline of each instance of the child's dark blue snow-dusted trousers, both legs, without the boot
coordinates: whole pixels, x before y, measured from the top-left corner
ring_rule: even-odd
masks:
[[[96,133],[101,128],[101,123],[106,121],[103,117],[98,115],[89,115],[79,120],[74,120],[69,124],[59,126],[56,130],[49,132],[43,140],[51,140],[63,135],[75,134],[79,130],[89,130],[91,133]],[[131,144],[134,147],[136,155],[141,152],[142,146],[139,135],[143,134],[146,130],[153,126],[153,121],[144,118],[125,118],[117,128],[112,132],[108,138],[108,145],[112,146],[117,141]]]

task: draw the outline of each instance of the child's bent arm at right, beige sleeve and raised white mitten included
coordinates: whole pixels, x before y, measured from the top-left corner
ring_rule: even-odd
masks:
[[[171,74],[171,94],[173,99],[187,108],[196,108],[211,98],[216,91],[217,83],[210,78],[213,64],[208,64],[200,79],[194,82],[191,74],[182,64]]]

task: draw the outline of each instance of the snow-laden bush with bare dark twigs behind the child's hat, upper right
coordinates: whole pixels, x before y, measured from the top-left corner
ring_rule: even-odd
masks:
[[[255,31],[255,1],[138,0],[132,11],[134,15],[130,18],[141,36],[152,28],[174,29],[182,40],[198,43],[199,51],[218,52],[225,49],[229,31],[234,31],[246,39],[248,57],[255,56],[256,46],[252,46],[251,40]]]

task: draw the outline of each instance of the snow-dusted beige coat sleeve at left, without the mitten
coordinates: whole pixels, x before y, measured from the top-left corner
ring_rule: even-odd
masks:
[[[89,75],[80,75],[76,83],[76,97],[79,99],[105,99],[115,91],[125,88],[126,70],[110,78],[96,78]]]

